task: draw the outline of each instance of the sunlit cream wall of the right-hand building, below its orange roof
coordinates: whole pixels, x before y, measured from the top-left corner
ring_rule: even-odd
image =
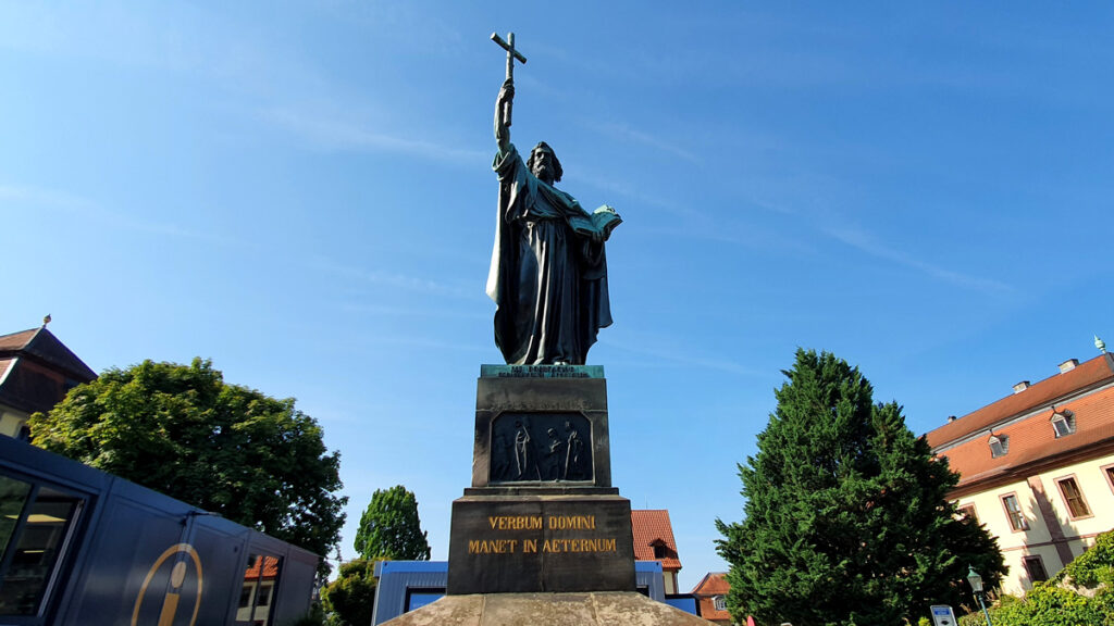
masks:
[[[1045,497],[1052,506],[1058,520],[1061,534],[1067,540],[1073,557],[1083,554],[1084,549],[1094,544],[1094,536],[1114,528],[1114,491],[1102,471],[1103,466],[1114,464],[1114,454],[1064,466],[1063,468],[1038,475],[1044,487]],[[1061,493],[1056,479],[1074,476],[1083,492],[1091,516],[1071,519],[1068,508]],[[1015,531],[1009,526],[1001,497],[1016,493],[1022,505],[1022,512],[1029,524],[1028,530]],[[1048,576],[1055,576],[1064,568],[1056,547],[1052,545],[1052,532],[1045,525],[1044,516],[1037,508],[1037,499],[1027,480],[1012,482],[994,489],[965,496],[957,500],[959,507],[975,505],[975,515],[986,526],[987,530],[998,538],[1009,573],[1003,580],[1001,588],[1007,594],[1023,595],[1033,587],[1025,571],[1022,559],[1038,555],[1044,561]]]

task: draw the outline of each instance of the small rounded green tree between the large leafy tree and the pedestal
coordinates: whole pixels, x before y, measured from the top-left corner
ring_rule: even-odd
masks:
[[[418,500],[405,487],[377,489],[360,516],[355,549],[365,559],[429,560]]]

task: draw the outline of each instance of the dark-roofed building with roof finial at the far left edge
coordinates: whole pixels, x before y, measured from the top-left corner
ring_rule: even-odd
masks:
[[[0,434],[26,439],[31,413],[49,411],[70,389],[96,378],[46,323],[0,335]]]

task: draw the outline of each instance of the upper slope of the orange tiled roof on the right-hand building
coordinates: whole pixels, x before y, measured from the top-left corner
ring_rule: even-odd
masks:
[[[1114,355],[1101,354],[1085,363],[1079,363],[1073,370],[1049,376],[1028,389],[1007,395],[991,402],[977,411],[929,431],[929,446],[932,449],[950,444],[959,439],[987,430],[1009,418],[1022,415],[1044,404],[1051,405],[1057,400],[1072,395],[1088,388],[1098,387],[1104,382],[1114,382]],[[948,451],[950,457],[950,450]]]

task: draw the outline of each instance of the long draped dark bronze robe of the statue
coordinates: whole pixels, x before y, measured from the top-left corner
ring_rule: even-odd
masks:
[[[487,293],[495,342],[509,364],[584,364],[612,323],[604,244],[568,224],[573,196],[534,176],[515,146],[496,155],[499,214]]]

